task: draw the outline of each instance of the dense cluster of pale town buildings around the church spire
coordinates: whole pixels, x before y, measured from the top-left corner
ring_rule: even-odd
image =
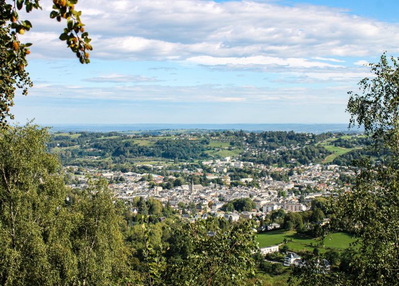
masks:
[[[267,170],[270,172],[288,172],[289,169],[265,167],[263,165],[253,165],[252,162],[234,161],[230,157],[224,159],[215,159],[212,161],[203,161],[203,164],[210,165],[215,172],[225,172],[229,166],[239,168],[238,166],[250,166],[258,170]],[[76,169],[75,167],[68,167]],[[267,169],[265,169],[267,168]],[[221,170],[223,169],[223,170]],[[261,216],[274,210],[283,209],[285,212],[304,211],[307,209],[306,203],[320,196],[330,196],[337,190],[336,180],[341,173],[351,175],[351,171],[342,170],[337,165],[322,166],[320,164],[309,164],[296,168],[294,174],[290,176],[288,182],[273,180],[271,177],[262,177],[257,179],[258,187],[239,185],[230,187],[229,185],[210,184],[203,186],[200,184],[184,184],[175,186],[170,189],[163,189],[161,186],[150,185],[148,180],[154,183],[162,183],[165,179],[176,179],[172,175],[163,177],[158,174],[139,174],[133,172],[101,172],[100,170],[85,170],[91,175],[98,175],[109,180],[114,178],[123,178],[122,180],[113,181],[109,185],[115,192],[115,195],[124,200],[130,200],[134,197],[143,197],[148,199],[154,197],[161,201],[164,205],[169,203],[175,209],[179,209],[179,203],[185,205],[194,203],[197,206],[196,212],[220,212],[220,208],[227,202],[239,198],[251,198],[256,205],[256,210],[250,213],[241,213],[243,217]],[[197,174],[202,169],[190,173],[188,170],[171,170],[179,172],[187,172],[189,174]],[[172,174],[172,172],[169,172]],[[208,174],[212,175],[212,174]],[[215,175],[214,175],[215,176]],[[217,174],[216,174],[217,176]],[[228,177],[228,174],[226,175]],[[85,187],[86,181],[84,176],[75,176],[79,180],[79,184],[71,185],[71,187]],[[253,178],[247,178],[248,180]],[[75,180],[76,181],[76,180]],[[312,190],[317,189],[306,195],[297,192],[298,187],[309,186]],[[345,190],[347,186],[339,186]],[[283,192],[283,194],[281,193]],[[190,210],[187,210],[190,212]],[[222,214],[224,215],[224,214]],[[234,216],[235,218],[235,216]]]

